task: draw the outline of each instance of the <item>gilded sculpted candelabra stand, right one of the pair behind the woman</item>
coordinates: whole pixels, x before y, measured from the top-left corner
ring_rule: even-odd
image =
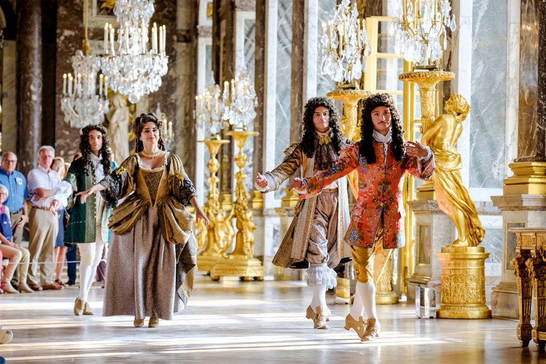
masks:
[[[234,212],[236,218],[237,235],[235,248],[224,259],[220,259],[212,267],[210,272],[212,279],[219,279],[225,275],[236,275],[244,280],[263,280],[265,268],[258,259],[254,258],[254,230],[256,225],[252,222],[252,210],[248,208],[248,195],[244,185],[246,178],[243,168],[247,162],[247,156],[242,151],[248,137],[255,137],[259,133],[247,131],[246,127],[235,128],[225,133],[235,139],[239,152],[235,156],[235,164],[239,171],[235,173],[235,202]],[[225,246],[222,253],[226,253],[230,246]]]

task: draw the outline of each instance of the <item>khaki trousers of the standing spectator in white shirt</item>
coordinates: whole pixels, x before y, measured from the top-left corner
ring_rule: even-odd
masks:
[[[32,208],[28,216],[31,253],[28,267],[28,283],[32,285],[53,284],[55,265],[55,240],[59,231],[59,221],[48,210]],[[38,271],[41,280],[38,279]]]

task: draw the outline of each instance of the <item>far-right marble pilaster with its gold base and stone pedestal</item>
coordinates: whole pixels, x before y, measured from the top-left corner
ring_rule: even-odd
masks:
[[[503,195],[491,197],[503,219],[502,277],[492,289],[492,314],[508,318],[518,318],[517,282],[510,264],[515,236],[508,229],[546,226],[546,1],[521,0],[518,5],[517,158],[509,164],[514,175],[505,179]]]

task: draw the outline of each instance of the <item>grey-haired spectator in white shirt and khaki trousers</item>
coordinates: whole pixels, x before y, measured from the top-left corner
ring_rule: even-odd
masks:
[[[67,197],[72,193],[72,187],[50,168],[54,157],[55,149],[52,146],[41,146],[38,150],[38,167],[28,172],[27,176],[32,207],[28,216],[28,250],[31,259],[27,280],[35,291],[62,289],[53,281],[55,239],[59,229],[57,210],[67,206]],[[38,271],[41,278],[38,277]]]

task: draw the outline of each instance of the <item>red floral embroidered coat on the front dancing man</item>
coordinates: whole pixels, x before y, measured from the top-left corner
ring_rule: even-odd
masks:
[[[374,140],[373,146],[377,163],[367,164],[365,158],[359,156],[358,144],[354,144],[340,151],[336,166],[304,179],[307,193],[300,198],[318,195],[324,186],[357,169],[359,192],[345,241],[349,245],[372,248],[379,222],[382,222],[383,248],[401,248],[405,245],[403,218],[406,212],[402,203],[404,175],[408,172],[422,180],[430,179],[435,169],[434,156],[423,163],[417,157],[407,156],[402,164],[394,158],[392,142],[388,143],[386,157],[383,143]]]

